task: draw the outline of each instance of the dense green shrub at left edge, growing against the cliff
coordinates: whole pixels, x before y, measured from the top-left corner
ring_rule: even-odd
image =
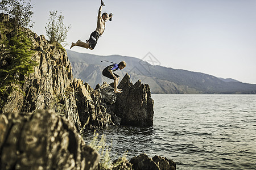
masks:
[[[1,32],[2,34],[2,32]],[[2,108],[7,96],[24,83],[24,76],[34,72],[34,66],[38,65],[32,60],[32,42],[25,32],[19,29],[17,32],[8,33],[9,39],[3,37],[0,50],[0,107]]]

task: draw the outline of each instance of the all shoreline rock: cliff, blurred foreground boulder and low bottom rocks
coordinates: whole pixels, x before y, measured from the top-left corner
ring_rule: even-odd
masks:
[[[8,22],[1,14],[0,23]],[[126,74],[119,83],[122,94],[114,94],[113,84],[93,89],[73,78],[65,49],[26,32],[35,50],[32,58],[39,64],[1,108],[1,169],[98,169],[100,155],[85,145],[79,132],[108,125],[152,126],[154,101],[147,84],[132,84]],[[0,40],[6,33],[13,31],[6,27]],[[0,56],[0,66],[8,65],[8,59]],[[176,169],[174,162],[160,156],[132,160],[112,169]]]

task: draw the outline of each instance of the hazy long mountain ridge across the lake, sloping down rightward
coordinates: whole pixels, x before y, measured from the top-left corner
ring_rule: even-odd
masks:
[[[97,56],[67,50],[73,74],[95,87],[98,83],[112,80],[102,76],[101,71],[112,62],[126,61],[127,67],[117,71],[120,76],[128,72],[131,80],[150,85],[153,94],[256,94],[256,84],[242,83],[234,79],[170,67],[154,66],[135,57],[111,55]]]

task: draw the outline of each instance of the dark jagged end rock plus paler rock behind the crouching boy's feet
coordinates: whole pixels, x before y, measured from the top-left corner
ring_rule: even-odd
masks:
[[[114,94],[114,84],[104,82],[97,85],[102,99],[101,103],[111,114],[115,125],[152,126],[154,117],[154,101],[151,99],[150,87],[138,80],[135,84],[130,82],[130,75],[126,74],[118,88],[121,94]]]

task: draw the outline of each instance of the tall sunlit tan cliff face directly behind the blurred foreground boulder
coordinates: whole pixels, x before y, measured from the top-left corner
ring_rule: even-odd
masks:
[[[1,16],[1,24],[8,25],[9,18],[3,14]],[[5,30],[6,34],[14,33],[11,28]],[[21,91],[14,91],[9,95],[2,112],[53,110],[56,114],[71,121],[77,129],[81,129],[72,86],[71,63],[67,52],[61,46],[50,44],[44,36],[38,36],[29,29],[24,31],[32,41],[33,50],[35,51],[32,59],[38,62],[38,66],[34,67],[34,73],[23,78],[25,83],[20,87]],[[0,56],[2,65],[8,63],[5,62],[5,59],[8,58]]]

